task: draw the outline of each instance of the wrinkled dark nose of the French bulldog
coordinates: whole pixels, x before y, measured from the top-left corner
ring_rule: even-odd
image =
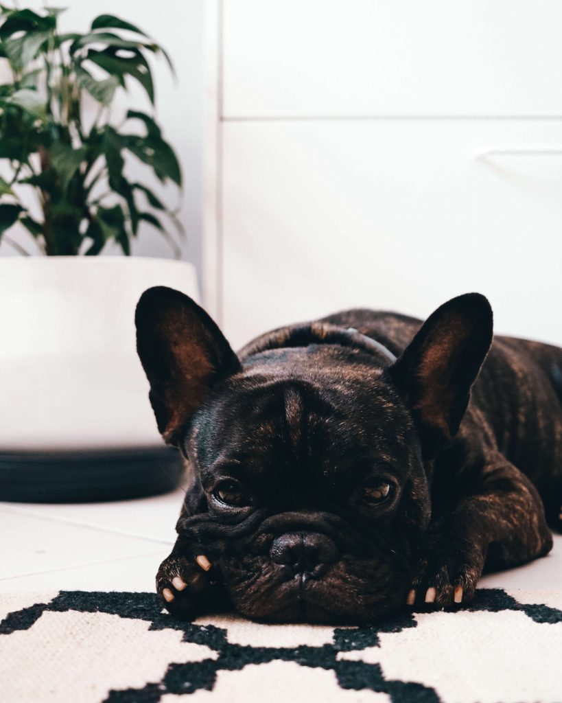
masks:
[[[334,562],[339,550],[334,540],[325,534],[287,532],[273,541],[269,554],[275,564],[290,566],[296,574],[302,574],[320,564]]]

